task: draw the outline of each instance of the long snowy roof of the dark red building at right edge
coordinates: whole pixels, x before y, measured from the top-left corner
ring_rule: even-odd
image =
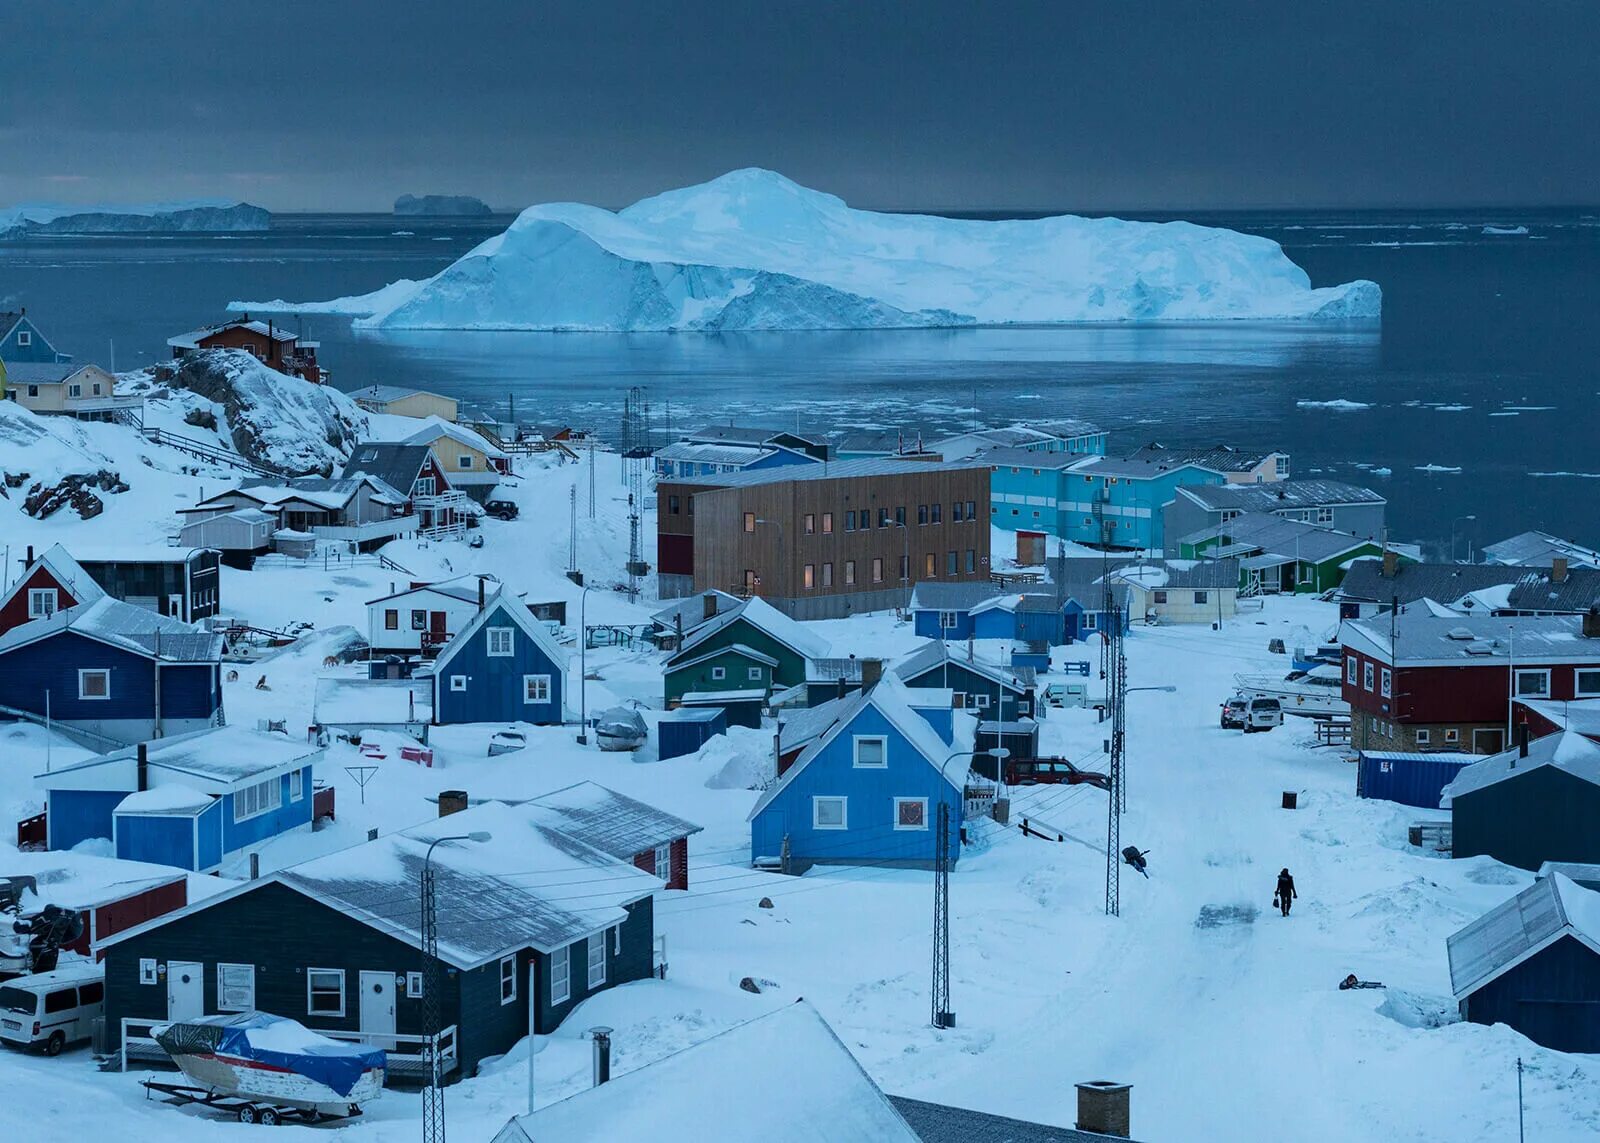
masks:
[[[1426,600],[1424,600],[1426,602]],[[1584,639],[1576,615],[1430,615],[1424,607],[1346,620],[1339,642],[1402,666],[1600,664],[1600,639]]]

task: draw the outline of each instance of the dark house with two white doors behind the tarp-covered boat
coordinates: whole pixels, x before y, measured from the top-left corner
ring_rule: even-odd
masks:
[[[382,1045],[390,1074],[418,1076],[422,994],[437,980],[446,1071],[470,1076],[528,1034],[530,991],[547,1033],[584,997],[654,973],[664,885],[586,842],[590,828],[550,807],[475,805],[117,933],[106,944],[110,1039],[126,1020],[261,1010]],[[438,840],[474,832],[488,837]],[[429,959],[421,874],[435,840]]]

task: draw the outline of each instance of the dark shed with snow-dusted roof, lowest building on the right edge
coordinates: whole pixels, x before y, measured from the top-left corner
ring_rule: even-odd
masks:
[[[1600,893],[1557,872],[1448,940],[1461,1018],[1557,1052],[1600,1052]]]

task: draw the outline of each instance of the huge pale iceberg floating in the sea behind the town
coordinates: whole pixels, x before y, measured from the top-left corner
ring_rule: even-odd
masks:
[[[232,307],[378,330],[853,330],[1376,319],[1381,299],[1373,282],[1314,290],[1278,243],[1234,231],[880,215],[752,168],[618,213],[530,207],[414,285]]]

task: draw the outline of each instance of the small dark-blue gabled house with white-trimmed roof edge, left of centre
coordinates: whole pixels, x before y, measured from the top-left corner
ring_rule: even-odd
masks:
[[[563,720],[566,653],[504,589],[434,660],[434,724]]]

